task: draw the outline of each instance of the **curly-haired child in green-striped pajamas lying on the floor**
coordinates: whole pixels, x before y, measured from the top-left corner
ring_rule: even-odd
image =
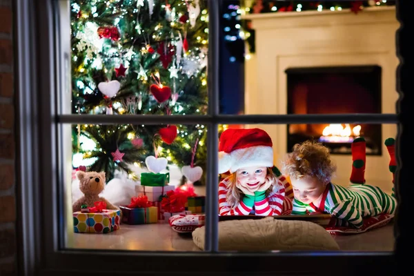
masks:
[[[390,170],[394,172],[394,139],[387,139],[386,146],[391,155]],[[365,184],[365,149],[364,138],[353,141],[351,186],[344,188],[331,183],[336,166],[330,159],[328,148],[316,141],[296,144],[282,166],[293,186],[292,215],[329,213],[355,228],[362,227],[365,217],[380,213],[393,215],[397,205],[395,197]]]

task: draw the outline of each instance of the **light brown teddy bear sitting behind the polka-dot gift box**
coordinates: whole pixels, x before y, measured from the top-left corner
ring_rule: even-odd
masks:
[[[84,172],[83,170],[78,170],[77,178],[79,179],[79,188],[83,193],[83,197],[72,205],[73,212],[80,211],[83,204],[92,207],[96,201],[104,201],[108,210],[119,210],[119,208],[112,205],[105,198],[99,197],[99,194],[105,188],[105,172]]]

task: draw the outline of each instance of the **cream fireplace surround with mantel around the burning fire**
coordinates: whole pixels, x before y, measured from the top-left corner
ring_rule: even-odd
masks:
[[[354,104],[356,101],[351,98],[351,95],[355,95],[355,91],[349,89],[339,94],[339,91],[344,89],[342,85],[339,86],[338,82],[334,81],[336,83],[335,90],[332,91],[335,93],[324,92],[328,95],[323,97],[319,104],[302,106],[303,109],[307,108],[307,112],[313,114],[322,112],[316,109],[321,107],[325,108],[323,112],[326,114],[328,112],[395,114],[395,103],[399,98],[399,94],[395,90],[397,87],[395,72],[399,63],[397,55],[395,55],[395,32],[400,28],[400,23],[395,17],[394,7],[364,8],[364,11],[358,12],[358,14],[344,9],[335,12],[325,10],[322,12],[248,14],[244,18],[252,22],[252,28],[255,30],[256,48],[256,52],[251,53],[250,59],[245,63],[245,114],[286,115],[293,113],[293,108],[288,110],[288,75],[290,81],[290,77],[299,78],[301,75],[311,73],[310,70],[319,70],[318,74],[322,79],[322,75],[326,75],[326,69],[333,72],[335,68],[343,70],[334,76],[337,79],[348,79],[344,70],[352,69],[351,72],[355,77],[353,81],[358,79],[371,80],[368,82],[368,85],[371,83],[371,86],[368,86],[371,88],[366,88],[366,84],[359,84],[359,86],[373,93],[370,95],[367,92],[361,97],[371,97],[373,100],[366,100],[365,106],[360,108],[358,105],[363,101]],[[302,69],[302,73],[300,73],[300,69]],[[325,69],[325,72],[321,72],[321,69]],[[371,72],[363,72],[368,69],[371,69]],[[297,70],[297,74],[294,73],[295,70]],[[304,70],[309,71],[305,74]],[[361,70],[361,72],[357,72],[357,70]],[[289,74],[287,75],[286,72]],[[375,79],[378,82],[375,82]],[[326,84],[328,81],[321,81],[321,83]],[[345,83],[345,85],[348,84]],[[381,95],[375,93],[381,93]],[[348,97],[345,97],[346,94]],[[344,99],[342,100],[339,96]],[[359,94],[357,96],[359,97]],[[331,110],[333,107],[331,103],[335,103],[332,98],[337,101],[341,99],[347,104],[336,106],[335,110]],[[328,102],[328,106],[325,102]],[[301,106],[297,105],[297,108],[299,107]],[[291,147],[294,143],[292,140],[288,142],[288,137],[290,137],[288,128],[290,126],[286,126],[286,124],[248,125],[248,127],[253,126],[263,128],[272,137],[275,164],[281,166],[280,160],[283,159],[286,152],[292,150]],[[315,139],[319,139],[324,126],[304,125],[301,128],[306,131],[297,131],[296,133],[297,135],[304,134],[306,138],[313,135]],[[352,130],[355,125],[351,124],[349,127]],[[342,128],[346,128],[346,125],[342,124]],[[361,125],[360,132],[360,135],[370,139],[365,170],[367,183],[375,184],[375,186],[391,192],[392,177],[387,169],[389,156],[384,139],[397,135],[397,125]],[[295,138],[295,141],[304,139],[304,137],[294,136],[291,138]],[[332,152],[334,150],[349,151],[351,145],[344,144],[345,146],[338,143],[329,146]],[[351,155],[332,154],[331,157],[337,165],[333,182],[346,186],[349,183],[352,169]]]

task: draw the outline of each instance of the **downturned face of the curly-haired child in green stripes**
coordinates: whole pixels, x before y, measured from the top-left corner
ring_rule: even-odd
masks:
[[[301,179],[290,178],[295,199],[304,204],[311,204],[324,193],[326,185],[313,177],[302,177]]]

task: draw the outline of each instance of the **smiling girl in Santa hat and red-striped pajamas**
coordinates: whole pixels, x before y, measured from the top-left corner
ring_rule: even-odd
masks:
[[[225,130],[219,140],[219,215],[288,215],[286,178],[273,166],[273,143],[259,128]]]

